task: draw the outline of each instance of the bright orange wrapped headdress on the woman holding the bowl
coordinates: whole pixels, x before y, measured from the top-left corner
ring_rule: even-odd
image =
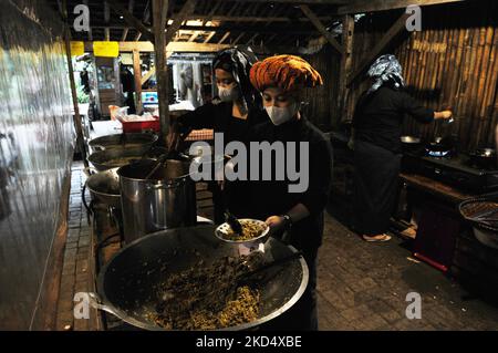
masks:
[[[323,84],[322,76],[305,60],[294,55],[277,55],[257,62],[250,73],[252,85],[260,92],[269,86],[284,92]]]

